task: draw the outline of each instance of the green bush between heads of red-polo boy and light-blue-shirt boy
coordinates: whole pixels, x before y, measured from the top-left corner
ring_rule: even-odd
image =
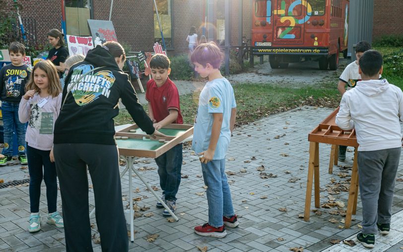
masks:
[[[169,57],[171,60],[171,74],[169,77],[174,80],[190,80],[193,77],[193,66],[186,54]]]

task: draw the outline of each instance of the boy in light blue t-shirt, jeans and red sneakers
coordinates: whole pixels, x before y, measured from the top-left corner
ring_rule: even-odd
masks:
[[[191,56],[197,71],[208,77],[195,119],[192,149],[202,155],[202,172],[207,186],[208,222],[195,227],[201,236],[223,238],[225,226],[239,225],[232,206],[231,191],[224,174],[225,154],[236,117],[234,90],[220,73],[222,54],[212,42],[199,45]]]

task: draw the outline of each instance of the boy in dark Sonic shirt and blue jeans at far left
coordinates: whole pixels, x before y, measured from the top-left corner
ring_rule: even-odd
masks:
[[[13,42],[8,47],[11,64],[0,70],[1,111],[4,124],[4,148],[0,166],[11,164],[13,153],[13,132],[18,140],[18,161],[27,164],[25,155],[25,124],[18,120],[18,106],[24,94],[25,84],[29,79],[29,68],[23,63],[25,47],[19,42]]]

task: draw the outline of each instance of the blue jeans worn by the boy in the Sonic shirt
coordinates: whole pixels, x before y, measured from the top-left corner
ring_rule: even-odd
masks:
[[[14,128],[17,134],[18,155],[25,155],[25,124],[18,120],[18,103],[2,102],[1,111],[3,114],[4,126],[4,148],[3,155],[12,156]]]

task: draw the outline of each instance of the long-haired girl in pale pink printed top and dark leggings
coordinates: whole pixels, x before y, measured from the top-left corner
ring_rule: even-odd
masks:
[[[37,63],[26,90],[19,104],[18,117],[22,123],[29,122],[25,136],[30,176],[31,215],[28,231],[33,233],[41,230],[39,200],[42,179],[46,184],[48,200],[47,222],[58,228],[64,227],[63,218],[57,211],[58,185],[53,156],[53,129],[62,104],[59,74],[55,65],[48,60]]]

